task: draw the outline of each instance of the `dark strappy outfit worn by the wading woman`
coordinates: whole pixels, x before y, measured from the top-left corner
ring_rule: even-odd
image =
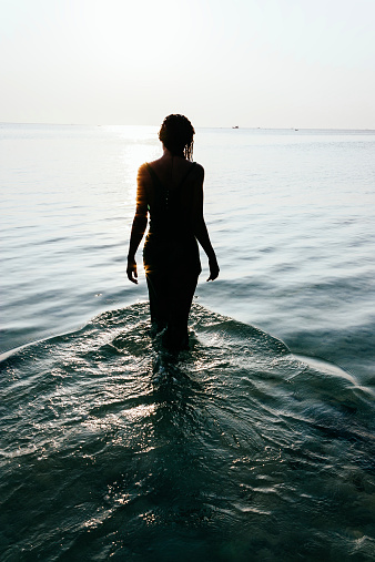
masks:
[[[166,347],[186,348],[188,317],[202,269],[191,214],[181,203],[181,187],[195,163],[173,190],[165,187],[154,170],[146,166],[154,187],[143,248],[151,323],[156,331],[166,328],[163,334]]]

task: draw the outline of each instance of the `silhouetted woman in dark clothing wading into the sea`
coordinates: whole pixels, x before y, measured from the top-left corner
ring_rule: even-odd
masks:
[[[188,317],[201,273],[196,241],[209,258],[210,277],[219,265],[203,217],[204,170],[192,162],[194,129],[183,115],[169,115],[159,139],[162,157],[143,164],[138,172],[136,210],[128,255],[126,274],[138,283],[135,253],[150,214],[143,248],[151,323],[162,331],[169,349],[185,349]]]

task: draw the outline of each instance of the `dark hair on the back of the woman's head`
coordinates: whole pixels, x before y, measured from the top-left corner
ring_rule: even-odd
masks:
[[[159,131],[159,139],[172,154],[193,160],[194,127],[188,117],[168,115]]]

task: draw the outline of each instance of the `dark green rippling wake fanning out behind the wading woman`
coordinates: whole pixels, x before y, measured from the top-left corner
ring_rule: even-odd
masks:
[[[1,364],[2,561],[371,561],[374,402],[344,370],[194,305],[148,305]]]

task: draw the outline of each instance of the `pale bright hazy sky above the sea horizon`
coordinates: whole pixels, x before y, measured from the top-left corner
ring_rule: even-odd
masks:
[[[0,0],[0,122],[375,129],[375,0]]]

